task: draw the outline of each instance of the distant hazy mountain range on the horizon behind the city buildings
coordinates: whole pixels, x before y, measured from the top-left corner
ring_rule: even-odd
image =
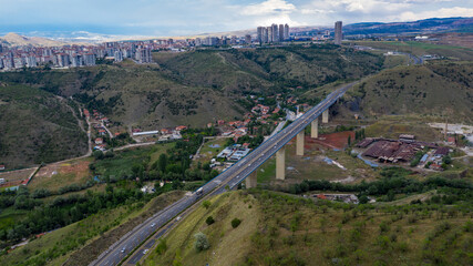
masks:
[[[294,27],[292,32],[311,32],[332,30],[333,27]],[[432,18],[410,22],[362,22],[343,25],[345,35],[371,34],[371,35],[392,35],[392,34],[425,34],[425,33],[442,33],[442,32],[466,32],[473,33],[473,18]],[[256,29],[212,32],[195,35],[169,37],[174,39],[186,39],[207,35],[244,35],[256,34]],[[31,37],[25,37],[31,35]],[[156,37],[146,35],[111,35],[100,34],[86,31],[74,32],[33,32],[25,35],[17,33],[8,33],[0,38],[0,43],[4,45],[35,45],[35,47],[53,47],[72,43],[101,43],[106,41],[123,41],[123,40],[150,40]],[[162,39],[163,37],[161,37]]]

